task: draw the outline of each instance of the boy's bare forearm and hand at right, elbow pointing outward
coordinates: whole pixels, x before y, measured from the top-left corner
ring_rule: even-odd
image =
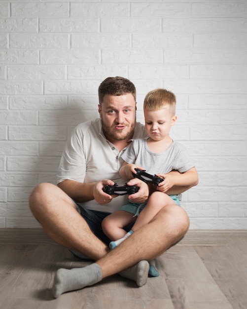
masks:
[[[172,171],[168,174],[157,174],[164,181],[157,187],[158,191],[168,194],[179,194],[198,184],[198,174],[195,167],[184,173]]]

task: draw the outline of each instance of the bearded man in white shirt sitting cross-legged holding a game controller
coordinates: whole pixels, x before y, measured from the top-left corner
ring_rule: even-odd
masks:
[[[78,257],[97,261],[82,269],[58,270],[54,297],[114,273],[142,286],[147,281],[146,261],[175,244],[189,227],[181,207],[166,207],[119,247],[108,249],[109,239],[102,232],[101,222],[126,203],[127,196],[108,195],[103,188],[114,182],[123,185],[118,172],[121,154],[132,138],[146,136],[143,126],[136,123],[134,84],[123,77],[106,78],[99,87],[99,115],[99,119],[79,124],[72,132],[61,158],[58,186],[39,184],[30,196],[32,213],[53,240]],[[131,201],[147,199],[144,182],[135,178],[127,184],[139,187],[137,193],[128,196]],[[169,193],[188,188],[172,188]]]

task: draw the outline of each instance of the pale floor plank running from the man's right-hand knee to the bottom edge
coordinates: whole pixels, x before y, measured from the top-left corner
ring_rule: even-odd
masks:
[[[159,260],[175,308],[232,309],[192,247],[175,246]]]

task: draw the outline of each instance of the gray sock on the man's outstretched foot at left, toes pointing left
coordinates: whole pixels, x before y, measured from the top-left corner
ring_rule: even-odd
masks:
[[[96,263],[71,270],[61,268],[55,273],[52,293],[55,298],[58,298],[62,293],[82,289],[101,280],[102,271]]]

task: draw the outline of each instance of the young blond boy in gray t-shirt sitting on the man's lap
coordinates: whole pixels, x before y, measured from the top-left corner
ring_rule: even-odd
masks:
[[[149,137],[132,141],[122,154],[125,162],[119,174],[123,179],[132,179],[133,173],[137,173],[135,168],[139,168],[163,178],[164,181],[156,188],[150,188],[151,193],[146,203],[140,205],[129,202],[103,220],[103,231],[113,240],[109,245],[111,249],[150,222],[163,207],[180,206],[181,194],[166,194],[171,187],[198,183],[196,168],[186,149],[169,136],[171,127],[176,123],[175,94],[166,89],[150,91],[144,99],[143,109]],[[180,174],[167,175],[172,170],[177,170]],[[126,233],[124,228],[134,221],[132,229]],[[149,274],[159,275],[153,261],[150,263]]]

